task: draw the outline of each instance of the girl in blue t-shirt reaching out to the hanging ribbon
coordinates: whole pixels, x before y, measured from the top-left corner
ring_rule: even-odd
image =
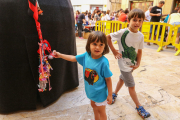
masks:
[[[81,55],[65,55],[53,51],[55,58],[78,62],[83,66],[87,97],[91,100],[95,120],[107,120],[106,105],[112,103],[112,72],[104,55],[109,53],[106,35],[94,31],[89,35],[86,51]]]

